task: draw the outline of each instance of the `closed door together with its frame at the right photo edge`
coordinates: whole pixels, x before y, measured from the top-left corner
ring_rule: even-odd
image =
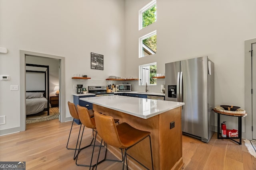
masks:
[[[256,140],[256,39],[245,41],[245,132]]]

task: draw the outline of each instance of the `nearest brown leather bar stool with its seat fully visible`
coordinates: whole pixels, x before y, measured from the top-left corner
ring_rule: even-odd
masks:
[[[122,153],[122,162],[123,162],[123,170],[124,170],[124,160],[126,159],[126,167],[128,169],[127,164],[127,150],[139,143],[140,141],[146,139],[149,137],[150,141],[150,153],[151,153],[151,161],[152,161],[152,170],[154,170],[153,166],[153,157],[152,157],[152,147],[151,147],[151,138],[150,138],[150,132],[148,131],[141,131],[139,129],[135,129],[134,127],[131,127],[128,123],[121,123],[119,125],[115,125],[114,119],[111,116],[102,115],[98,113],[97,111],[94,111],[94,118],[95,118],[95,124],[97,127],[98,134],[102,138],[102,140],[113,147],[119,148],[119,149],[125,149],[124,156]],[[102,143],[102,141],[101,141]],[[98,158],[100,156],[100,151],[98,154]],[[130,156],[130,155],[128,155]],[[130,156],[132,159],[134,159],[136,162],[138,162],[140,165],[142,165],[144,168],[148,169],[146,166],[144,166],[142,163],[140,163],[138,160]],[[98,162],[98,160],[97,160]],[[96,169],[97,169],[96,164]],[[149,170],[149,169],[148,169]]]

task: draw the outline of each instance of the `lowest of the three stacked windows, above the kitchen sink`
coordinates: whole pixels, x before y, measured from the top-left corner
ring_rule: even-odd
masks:
[[[156,79],[152,78],[156,76],[156,63],[144,64],[139,66],[140,70],[140,84],[156,84]]]

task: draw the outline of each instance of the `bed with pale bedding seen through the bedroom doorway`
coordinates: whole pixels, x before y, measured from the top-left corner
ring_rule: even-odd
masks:
[[[26,115],[47,111],[47,102],[43,92],[26,92]]]

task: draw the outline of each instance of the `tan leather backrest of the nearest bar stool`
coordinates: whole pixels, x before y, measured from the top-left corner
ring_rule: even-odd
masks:
[[[94,111],[94,118],[97,132],[102,140],[113,147],[122,148],[114,118],[112,116],[100,114],[97,111]]]

